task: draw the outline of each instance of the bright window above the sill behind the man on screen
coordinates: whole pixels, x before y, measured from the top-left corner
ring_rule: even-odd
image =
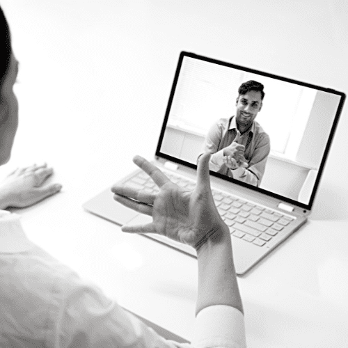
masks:
[[[232,116],[238,88],[248,80],[264,85],[258,122],[271,150],[294,159],[317,93],[312,88],[184,57],[168,125],[205,135],[214,118]]]

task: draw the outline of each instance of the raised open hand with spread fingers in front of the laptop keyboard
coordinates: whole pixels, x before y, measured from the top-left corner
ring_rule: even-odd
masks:
[[[122,226],[124,232],[158,233],[193,248],[205,242],[219,243],[230,237],[228,226],[216,209],[209,181],[210,154],[198,161],[197,183],[191,191],[182,189],[143,157],[134,157],[134,163],[159,187],[159,193],[138,191],[127,186],[113,186],[114,199],[137,212],[152,216],[152,223],[141,226]]]

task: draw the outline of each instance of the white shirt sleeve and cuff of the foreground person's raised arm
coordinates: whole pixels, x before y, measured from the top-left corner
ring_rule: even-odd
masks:
[[[244,317],[230,306],[198,313],[191,344],[166,340],[97,287],[79,284],[65,297],[56,322],[55,348],[244,348]]]

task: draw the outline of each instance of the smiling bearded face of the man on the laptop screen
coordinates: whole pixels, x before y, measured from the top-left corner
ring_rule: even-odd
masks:
[[[248,129],[261,110],[261,92],[258,90],[250,90],[244,95],[239,95],[236,106],[237,126]]]

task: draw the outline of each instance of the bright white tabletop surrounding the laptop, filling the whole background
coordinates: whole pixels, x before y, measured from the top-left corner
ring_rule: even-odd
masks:
[[[20,61],[20,113],[13,158],[0,174],[47,161],[52,181],[63,184],[19,211],[26,234],[125,308],[187,340],[196,259],[127,235],[81,205],[132,171],[134,155],[153,157],[181,50],[338,90],[347,81],[345,3],[255,5],[248,40],[244,6],[211,3],[1,1]],[[331,71],[322,69],[329,63]],[[347,127],[345,106],[306,226],[239,278],[248,347],[347,347]]]

